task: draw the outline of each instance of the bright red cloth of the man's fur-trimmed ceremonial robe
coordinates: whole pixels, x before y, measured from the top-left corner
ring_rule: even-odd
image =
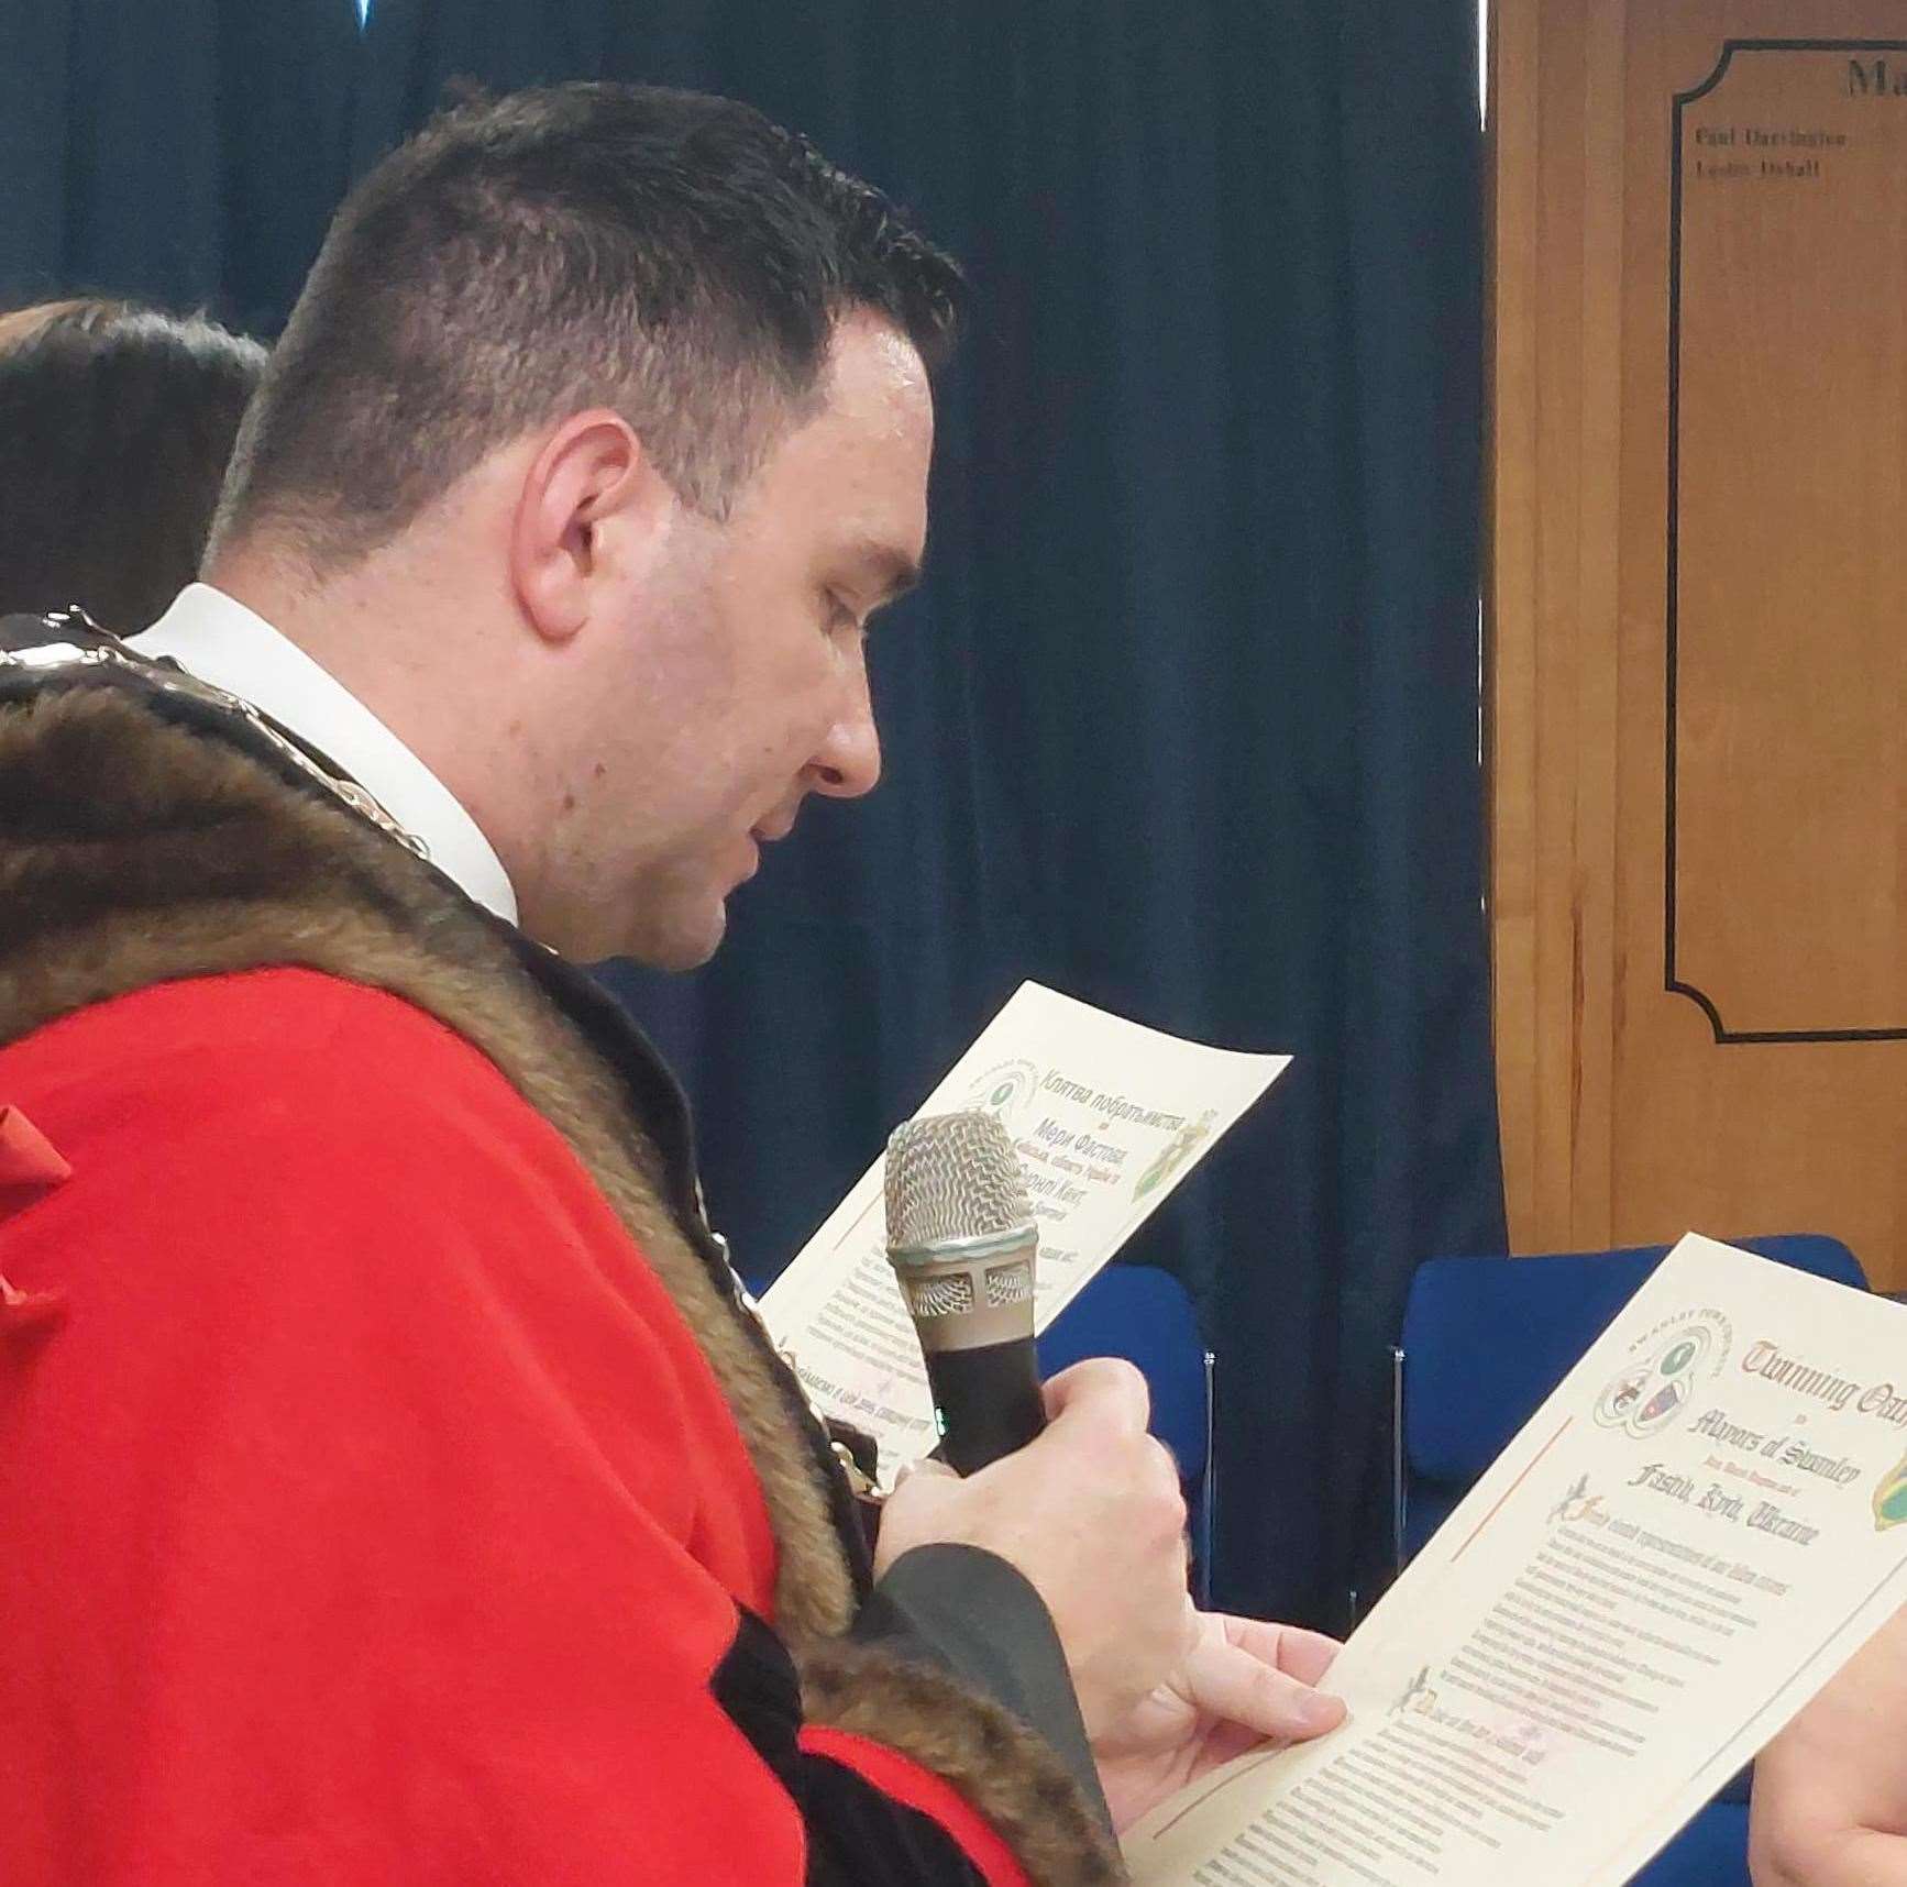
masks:
[[[1026,1879],[894,1750],[744,1733],[734,1418],[461,1037],[198,978],[0,1048],[6,1104],[71,1165],[0,1170],[6,1887],[772,1887],[854,1792],[963,1857],[919,1877]]]

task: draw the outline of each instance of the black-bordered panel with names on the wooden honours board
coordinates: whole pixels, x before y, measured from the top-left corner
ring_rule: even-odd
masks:
[[[1907,1039],[1907,40],[1676,95],[1667,417],[1667,985]]]

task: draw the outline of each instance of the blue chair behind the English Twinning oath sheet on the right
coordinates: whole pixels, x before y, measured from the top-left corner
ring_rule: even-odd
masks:
[[[1859,1260],[1838,1239],[1735,1243],[1867,1288]],[[1430,1258],[1417,1268],[1394,1351],[1400,1571],[1667,1254],[1667,1245],[1636,1245],[1548,1258]],[[1743,1771],[1632,1887],[1749,1887],[1747,1801]]]

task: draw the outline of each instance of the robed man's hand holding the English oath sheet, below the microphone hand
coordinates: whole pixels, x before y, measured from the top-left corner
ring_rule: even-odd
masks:
[[[1344,1721],[1344,1704],[1312,1689],[1337,1656],[1337,1639],[1192,1611],[1190,1599],[1186,1611],[1194,1635],[1180,1666],[1093,1738],[1118,1830],[1255,1742],[1304,1742]]]

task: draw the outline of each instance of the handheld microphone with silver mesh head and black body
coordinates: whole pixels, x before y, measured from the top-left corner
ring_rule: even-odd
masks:
[[[1047,1426],[1034,1357],[1039,1228],[990,1113],[904,1121],[887,1142],[887,1258],[927,1357],[942,1454],[973,1473]]]

